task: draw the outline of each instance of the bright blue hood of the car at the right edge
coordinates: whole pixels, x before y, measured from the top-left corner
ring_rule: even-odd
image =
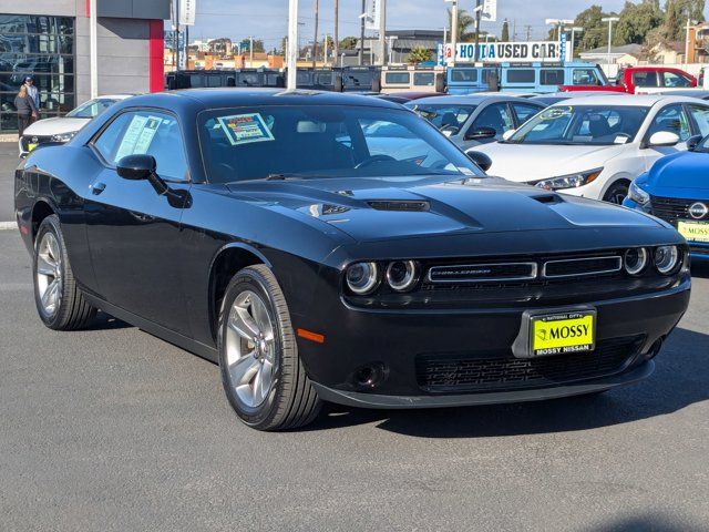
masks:
[[[709,153],[681,152],[657,161],[644,178],[657,196],[691,196],[690,191],[709,194]]]

